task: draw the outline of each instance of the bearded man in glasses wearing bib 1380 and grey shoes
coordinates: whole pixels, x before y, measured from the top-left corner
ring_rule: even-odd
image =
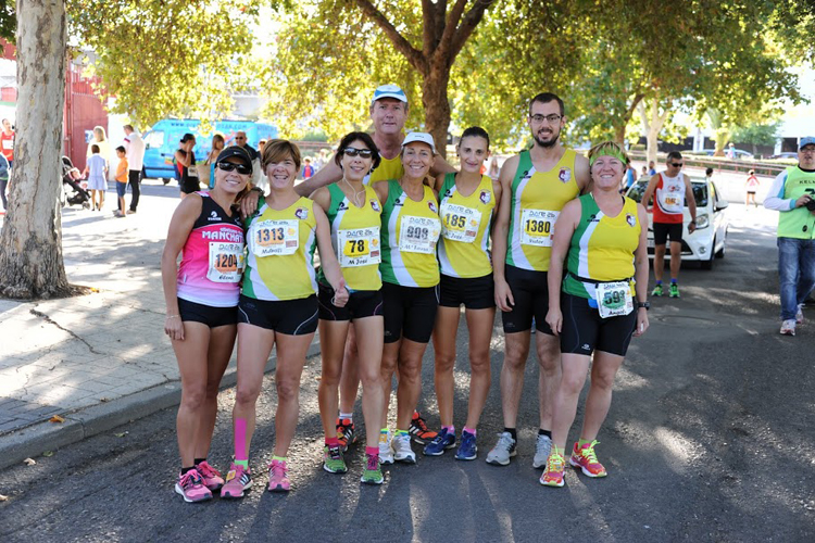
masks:
[[[496,304],[502,312],[505,336],[501,368],[504,431],[487,463],[506,466],[515,456],[518,403],[535,323],[542,333],[537,333],[535,341],[540,425],[532,465],[542,468],[552,444],[552,400],[561,377],[560,344],[546,320],[552,226],[563,206],[587,189],[589,162],[561,144],[566,117],[563,100],[555,94],[543,92],[532,98],[528,124],[535,140],[531,149],[509,159],[499,176],[505,195],[492,233],[492,263]]]

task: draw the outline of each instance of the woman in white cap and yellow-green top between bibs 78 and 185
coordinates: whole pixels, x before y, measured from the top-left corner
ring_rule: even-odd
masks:
[[[383,384],[385,404],[393,372],[399,370],[397,431],[387,428],[379,438],[379,459],[415,463],[409,429],[422,390],[422,356],[432,333],[438,307],[439,264],[436,243],[441,233],[439,204],[424,185],[436,155],[432,136],[411,132],[402,142],[404,175],[374,184],[383,202],[381,244],[385,349]],[[383,418],[387,420],[387,418]]]

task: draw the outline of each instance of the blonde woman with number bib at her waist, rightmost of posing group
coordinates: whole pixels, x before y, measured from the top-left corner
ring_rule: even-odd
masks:
[[[566,439],[590,365],[584,425],[568,462],[588,477],[606,476],[594,453],[597,435],[631,337],[648,329],[648,215],[617,191],[628,163],[618,144],[594,146],[591,192],[567,203],[554,225],[547,323],[561,338],[563,377],[554,397],[552,452],[540,478],[549,487],[563,487]]]

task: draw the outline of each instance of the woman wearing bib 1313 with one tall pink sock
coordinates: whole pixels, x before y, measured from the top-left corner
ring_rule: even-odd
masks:
[[[294,192],[300,150],[286,140],[266,143],[262,155],[269,192],[247,218],[247,270],[238,304],[238,384],[233,411],[235,462],[222,497],[241,497],[251,487],[249,445],[254,432],[255,403],[268,355],[277,348],[275,447],[268,465],[268,490],[288,492],[287,454],[300,411],[300,376],[305,353],[317,329],[317,283],[314,251],[335,290],[334,304],[344,306],[348,291],[325,213]]]

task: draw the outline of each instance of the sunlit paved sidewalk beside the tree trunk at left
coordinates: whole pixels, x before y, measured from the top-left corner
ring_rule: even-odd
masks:
[[[161,285],[161,252],[178,202],[174,182],[148,180],[138,213],[126,218],[113,217],[111,190],[102,212],[63,209],[68,281],[96,291],[0,300],[0,469],[178,403]],[[317,348],[315,340],[310,354]],[[233,356],[223,384],[234,383]],[[64,422],[49,421],[53,415]]]

